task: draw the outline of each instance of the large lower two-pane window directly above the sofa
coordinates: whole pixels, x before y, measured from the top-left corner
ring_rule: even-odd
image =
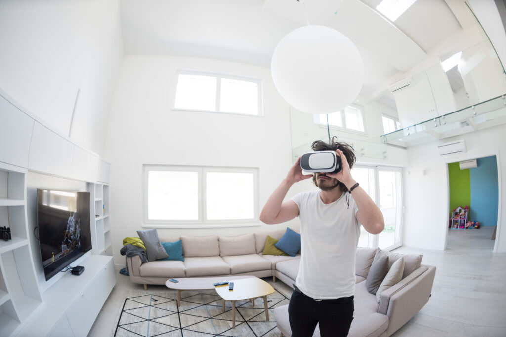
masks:
[[[144,221],[256,221],[257,179],[256,168],[144,165]]]

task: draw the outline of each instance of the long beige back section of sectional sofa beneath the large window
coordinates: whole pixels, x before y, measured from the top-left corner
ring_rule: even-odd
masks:
[[[156,260],[142,263],[139,256],[127,257],[130,280],[135,283],[165,284],[169,278],[252,275],[274,275],[278,262],[300,259],[291,256],[262,255],[267,235],[279,239],[285,229],[238,236],[160,236],[160,242],[183,244],[184,261]],[[291,284],[290,284],[291,285]]]

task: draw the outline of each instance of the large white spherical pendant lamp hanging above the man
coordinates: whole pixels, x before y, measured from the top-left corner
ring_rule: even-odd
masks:
[[[330,27],[310,25],[279,41],[271,61],[281,97],[303,112],[337,112],[357,97],[364,79],[362,58],[348,37]]]

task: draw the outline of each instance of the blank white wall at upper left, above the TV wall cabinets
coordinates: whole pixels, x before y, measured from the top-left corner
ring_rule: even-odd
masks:
[[[101,156],[123,56],[119,15],[119,0],[0,2],[0,88]]]

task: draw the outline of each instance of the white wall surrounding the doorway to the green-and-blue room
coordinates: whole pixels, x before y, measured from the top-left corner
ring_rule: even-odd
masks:
[[[439,143],[464,139],[467,153],[441,157]],[[408,149],[409,167],[403,174],[405,213],[403,245],[443,250],[448,230],[448,168],[447,163],[488,156],[497,156],[499,194],[506,191],[506,136],[504,126],[445,138]],[[501,179],[502,177],[502,179]],[[497,252],[506,252],[506,198],[499,195]]]

